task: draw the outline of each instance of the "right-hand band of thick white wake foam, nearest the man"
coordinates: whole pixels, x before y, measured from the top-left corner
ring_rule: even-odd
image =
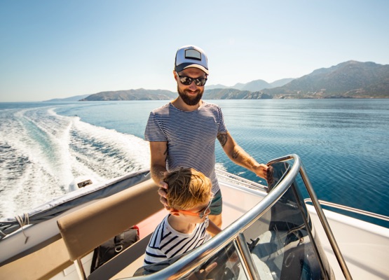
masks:
[[[114,178],[149,167],[149,145],[129,134],[95,127],[75,119],[69,144],[74,167],[79,175]]]

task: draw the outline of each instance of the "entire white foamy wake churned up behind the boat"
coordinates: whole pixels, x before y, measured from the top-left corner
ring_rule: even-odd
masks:
[[[149,167],[143,139],[53,108],[4,110],[0,118],[0,218],[67,193],[76,177],[105,181]]]

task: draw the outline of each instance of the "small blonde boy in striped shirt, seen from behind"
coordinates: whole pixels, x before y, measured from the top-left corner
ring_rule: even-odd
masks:
[[[197,248],[221,230],[208,220],[212,183],[192,168],[166,172],[170,214],[157,226],[146,248],[144,265],[173,258]],[[208,232],[207,232],[208,231]]]

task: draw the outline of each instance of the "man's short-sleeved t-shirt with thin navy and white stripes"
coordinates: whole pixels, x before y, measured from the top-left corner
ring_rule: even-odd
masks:
[[[195,111],[181,111],[171,103],[150,113],[144,132],[146,141],[168,141],[166,169],[191,167],[212,181],[212,193],[219,184],[214,172],[215,140],[226,133],[221,109],[216,104],[203,102]]]

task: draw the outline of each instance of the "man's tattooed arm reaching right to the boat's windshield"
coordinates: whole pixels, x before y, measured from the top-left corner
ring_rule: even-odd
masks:
[[[219,140],[221,147],[223,147],[224,153],[228,155],[230,160],[241,167],[249,169],[257,174],[257,176],[266,179],[268,166],[259,164],[254,158],[246,153],[243,148],[240,148],[229,132],[218,134],[217,139]]]

